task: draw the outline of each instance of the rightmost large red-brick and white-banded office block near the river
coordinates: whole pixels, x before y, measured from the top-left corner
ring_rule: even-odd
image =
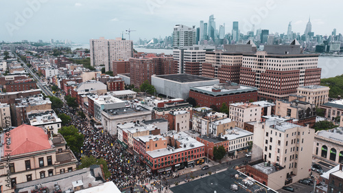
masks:
[[[240,84],[259,88],[259,100],[287,100],[298,87],[320,84],[318,54],[243,54]]]

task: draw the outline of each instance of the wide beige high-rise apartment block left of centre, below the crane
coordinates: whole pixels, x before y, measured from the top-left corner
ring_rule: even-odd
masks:
[[[106,71],[112,71],[113,61],[128,60],[133,56],[132,41],[115,38],[115,40],[91,39],[89,41],[91,52],[91,65],[105,65]]]

